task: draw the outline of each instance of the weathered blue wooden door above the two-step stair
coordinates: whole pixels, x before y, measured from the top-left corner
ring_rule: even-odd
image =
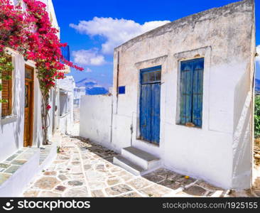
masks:
[[[141,70],[141,139],[160,142],[161,66]]]

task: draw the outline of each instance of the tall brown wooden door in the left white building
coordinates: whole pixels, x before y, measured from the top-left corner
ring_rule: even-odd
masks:
[[[33,144],[33,68],[26,66],[23,146]]]

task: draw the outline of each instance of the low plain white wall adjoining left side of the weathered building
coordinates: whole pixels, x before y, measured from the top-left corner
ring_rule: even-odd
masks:
[[[111,148],[112,97],[84,95],[80,104],[80,136]]]

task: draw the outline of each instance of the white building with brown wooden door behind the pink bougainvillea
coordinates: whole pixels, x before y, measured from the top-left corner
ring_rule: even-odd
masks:
[[[14,4],[18,2],[14,1]],[[59,28],[52,1],[43,2],[47,5],[53,26]],[[0,93],[0,99],[5,97],[10,101],[0,104],[0,197],[21,195],[23,187],[47,167],[57,153],[55,143],[43,146],[42,96],[36,64],[25,61],[23,55],[14,50],[8,51],[14,69],[11,80],[1,82],[5,88]],[[63,71],[70,72],[69,67],[66,66],[66,69]],[[56,85],[50,91],[48,139],[52,142],[58,126],[58,88]]]

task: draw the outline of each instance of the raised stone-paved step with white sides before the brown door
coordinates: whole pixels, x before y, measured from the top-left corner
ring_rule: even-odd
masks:
[[[56,143],[43,148],[21,148],[0,162],[0,197],[19,197],[33,178],[54,160]]]

